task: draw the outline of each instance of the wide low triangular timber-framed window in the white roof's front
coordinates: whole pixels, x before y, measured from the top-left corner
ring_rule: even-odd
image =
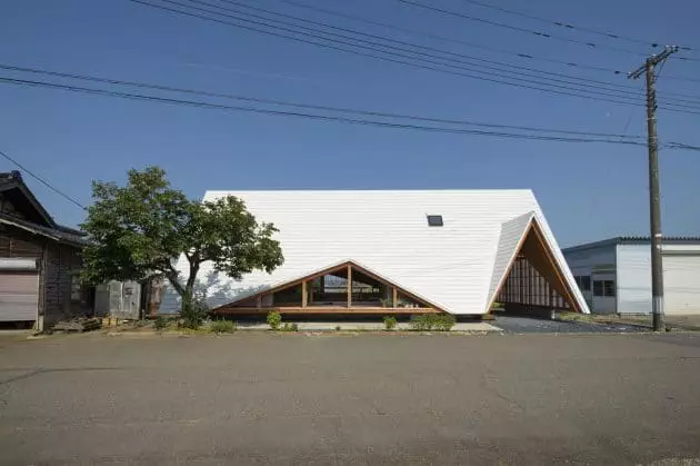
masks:
[[[261,290],[213,309],[217,314],[424,314],[441,313],[402,287],[347,261]]]

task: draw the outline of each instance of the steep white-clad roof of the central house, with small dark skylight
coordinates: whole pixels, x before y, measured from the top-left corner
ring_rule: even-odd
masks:
[[[279,228],[284,264],[241,281],[219,277],[212,306],[352,260],[450,313],[484,314],[534,218],[587,310],[530,190],[207,191],[204,200],[228,195]],[[428,215],[444,226],[429,227]]]

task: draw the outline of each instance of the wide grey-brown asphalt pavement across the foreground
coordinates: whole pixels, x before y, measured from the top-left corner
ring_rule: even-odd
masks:
[[[0,464],[681,464],[699,394],[698,334],[10,336]]]

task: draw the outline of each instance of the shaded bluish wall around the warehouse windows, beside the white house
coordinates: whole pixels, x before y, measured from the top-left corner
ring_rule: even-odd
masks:
[[[582,291],[591,313],[614,313],[614,297],[593,296],[593,280],[614,279],[614,245],[603,245],[574,251],[564,251],[564,258],[574,276],[590,276],[591,289]]]

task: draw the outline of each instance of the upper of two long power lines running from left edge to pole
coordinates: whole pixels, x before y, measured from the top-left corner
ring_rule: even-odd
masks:
[[[182,93],[196,95],[196,96],[202,96],[202,97],[216,97],[216,98],[251,101],[251,102],[257,102],[257,103],[292,107],[292,108],[303,108],[303,109],[310,109],[310,110],[323,110],[323,111],[332,111],[332,112],[341,112],[341,113],[352,113],[352,115],[360,115],[364,117],[398,118],[398,119],[416,120],[416,121],[423,121],[423,122],[461,125],[461,126],[472,126],[472,127],[481,127],[481,128],[499,128],[499,129],[511,129],[511,130],[514,129],[514,130],[533,131],[533,132],[556,132],[556,133],[563,133],[563,135],[577,135],[577,136],[643,139],[643,136],[627,136],[624,133],[614,135],[614,133],[608,133],[608,132],[574,131],[574,130],[537,128],[537,127],[514,126],[514,125],[497,125],[497,123],[486,123],[486,122],[480,122],[480,121],[456,120],[456,119],[446,119],[446,118],[423,117],[423,116],[416,116],[416,115],[401,115],[401,113],[393,113],[393,112],[358,110],[358,109],[330,107],[330,106],[318,106],[318,105],[309,105],[309,103],[300,103],[300,102],[290,102],[290,101],[278,100],[278,99],[266,99],[266,98],[251,97],[251,96],[210,92],[210,91],[203,91],[203,90],[197,90],[197,89],[190,89],[190,88],[176,88],[176,87],[170,87],[170,86],[152,85],[152,83],[146,83],[146,82],[100,78],[96,76],[86,76],[86,75],[41,70],[41,69],[36,69],[36,68],[16,67],[16,66],[2,65],[2,63],[0,63],[0,69],[10,70],[10,71],[29,72],[29,73],[36,73],[36,75],[53,76],[53,77],[60,77],[60,78],[78,79],[78,80],[92,81],[92,82],[102,82],[102,83],[109,83],[109,85],[129,86],[129,87],[171,91],[171,92],[182,92]]]

